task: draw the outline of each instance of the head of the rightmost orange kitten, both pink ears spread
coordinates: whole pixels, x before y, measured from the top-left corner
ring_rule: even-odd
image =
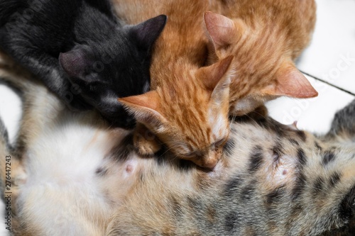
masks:
[[[231,20],[206,12],[204,22],[209,35],[209,60],[215,62],[234,56],[231,69],[236,76],[230,86],[234,115],[249,113],[278,96],[317,96],[317,91],[293,63],[295,51],[307,45],[304,41],[309,40],[309,35],[290,36],[290,29],[283,23],[257,17],[255,21]]]

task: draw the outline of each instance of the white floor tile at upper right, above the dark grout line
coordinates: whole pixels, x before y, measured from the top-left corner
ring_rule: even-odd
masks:
[[[355,1],[318,0],[312,44],[298,67],[355,93]]]

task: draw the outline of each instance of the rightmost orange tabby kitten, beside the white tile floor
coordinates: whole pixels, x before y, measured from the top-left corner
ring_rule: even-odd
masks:
[[[313,0],[224,0],[222,14],[206,12],[210,60],[234,55],[230,113],[240,116],[277,96],[317,96],[293,63],[315,27]]]

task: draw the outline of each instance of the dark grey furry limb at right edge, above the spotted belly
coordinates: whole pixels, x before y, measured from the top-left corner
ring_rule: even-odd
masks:
[[[326,137],[355,141],[355,100],[335,114]]]

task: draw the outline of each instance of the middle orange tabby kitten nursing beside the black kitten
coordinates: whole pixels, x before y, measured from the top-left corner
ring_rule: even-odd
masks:
[[[229,135],[225,114],[232,71],[231,57],[202,67],[208,43],[203,14],[209,9],[209,1],[116,0],[114,4],[128,23],[157,13],[168,16],[153,50],[152,91],[119,101],[178,157],[201,167],[214,167]],[[146,129],[138,125],[134,142],[141,154],[160,149],[156,140],[149,137]]]

